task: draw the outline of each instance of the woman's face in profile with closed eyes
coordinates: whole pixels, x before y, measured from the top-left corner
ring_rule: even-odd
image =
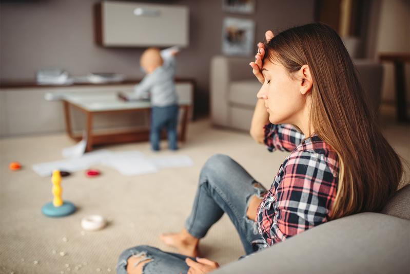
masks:
[[[262,74],[265,82],[257,97],[264,100],[269,121],[274,124],[295,123],[305,104],[299,81],[291,79],[282,64],[268,59],[263,62]]]

